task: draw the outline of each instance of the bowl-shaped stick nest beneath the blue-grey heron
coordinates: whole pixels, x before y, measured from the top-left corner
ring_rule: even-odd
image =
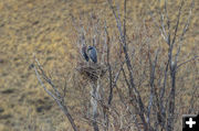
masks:
[[[92,81],[96,81],[102,78],[106,73],[106,66],[93,63],[78,63],[76,67],[81,76]]]

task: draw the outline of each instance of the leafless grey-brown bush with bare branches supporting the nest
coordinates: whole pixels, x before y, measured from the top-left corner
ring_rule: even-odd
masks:
[[[191,108],[182,111],[177,103],[182,98],[178,86],[180,85],[184,89],[187,86],[186,81],[180,80],[184,79],[180,68],[192,62],[195,63],[193,68],[198,72],[199,56],[197,54],[185,62],[179,61],[180,48],[191,20],[193,1],[190,3],[185,25],[180,25],[185,1],[181,0],[174,22],[169,18],[169,7],[165,0],[164,9],[157,13],[159,19],[151,13],[153,11],[150,12],[150,24],[155,24],[156,28],[151,30],[144,21],[135,33],[136,39],[127,33],[127,1],[124,1],[123,20],[118,6],[115,8],[112,0],[107,2],[115,17],[118,35],[111,35],[109,30],[113,29],[108,29],[106,22],[98,20],[95,15],[90,18],[88,29],[72,18],[78,37],[77,47],[81,50],[83,44],[96,46],[100,59],[98,64],[83,62],[81,55],[77,59],[76,70],[84,80],[75,78],[73,80],[75,79],[80,87],[86,84],[91,87],[90,97],[85,94],[81,95],[85,102],[82,105],[82,116],[78,118],[87,121],[88,124],[92,123],[94,131],[101,129],[104,131],[174,131],[178,129],[175,122],[181,119],[182,113],[198,113],[193,106],[197,101],[195,98],[198,89],[197,81],[192,85],[193,91],[190,95]],[[157,30],[159,33],[156,32]],[[159,35],[164,41],[155,41]],[[63,110],[73,129],[78,130],[64,102],[65,94],[62,95],[57,90],[36,58],[32,67],[44,90]],[[42,80],[52,87],[53,92],[45,87]],[[91,105],[88,99],[91,99]]]

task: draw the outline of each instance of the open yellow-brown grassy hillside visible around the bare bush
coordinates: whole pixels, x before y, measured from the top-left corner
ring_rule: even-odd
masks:
[[[174,3],[169,4],[169,11],[177,9]],[[149,3],[148,0],[128,1],[129,28],[135,25],[134,22],[139,23],[145,17],[147,19],[148,6],[155,9],[157,3]],[[199,1],[196,0],[182,53],[199,51],[199,46],[195,46],[199,43],[198,11]],[[102,21],[106,20],[109,28],[115,25],[106,0],[0,0],[0,131],[25,131],[29,127],[44,131],[71,129],[29,66],[35,53],[48,72],[53,70],[52,74],[60,76],[72,74],[76,62],[77,35],[71,14],[86,23],[92,13]],[[69,99],[72,99],[75,89],[70,91]],[[70,100],[71,109],[75,103]],[[80,125],[88,127],[84,123]]]

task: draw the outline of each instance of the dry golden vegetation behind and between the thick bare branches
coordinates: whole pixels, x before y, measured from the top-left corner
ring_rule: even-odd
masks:
[[[158,7],[164,7],[164,1],[158,0],[127,0],[126,34],[129,43],[128,51],[132,53],[135,84],[144,102],[147,102],[150,91],[148,88],[149,65],[148,45],[150,53],[156,55],[156,51],[161,46],[158,59],[159,68],[164,65],[168,46],[156,28],[149,10],[158,11]],[[124,19],[123,2],[119,4],[121,19]],[[169,0],[169,15],[171,22],[176,21],[177,10],[180,0]],[[186,0],[180,19],[181,30],[187,20],[190,1]],[[179,54],[179,62],[185,62],[199,55],[199,2],[195,1],[190,26],[185,35]],[[155,17],[159,14],[155,13]],[[31,64],[34,62],[33,54],[41,63],[45,74],[53,80],[59,90],[65,96],[65,105],[73,116],[77,128],[82,131],[92,130],[90,84],[80,76],[76,70],[81,62],[78,53],[82,28],[85,30],[87,44],[97,41],[97,51],[102,64],[103,50],[106,44],[106,33],[104,31],[105,21],[109,35],[109,64],[113,69],[113,78],[121,68],[121,61],[124,53],[119,51],[119,33],[115,18],[106,0],[0,0],[0,131],[70,131],[72,127],[64,113],[60,110],[54,100],[41,88],[38,83]],[[158,18],[155,18],[158,19]],[[174,24],[171,24],[174,26]],[[97,31],[96,31],[97,29]],[[178,34],[179,36],[179,34]],[[174,50],[176,53],[177,50]],[[121,55],[118,55],[121,54]],[[106,57],[106,55],[104,56]],[[106,59],[106,58],[105,58]],[[146,61],[144,61],[146,59]],[[176,79],[176,113],[180,118],[182,113],[197,112],[199,103],[196,102],[193,110],[189,110],[191,103],[192,89],[199,101],[199,65],[198,61],[191,61],[181,66]],[[145,69],[144,69],[145,68]],[[124,67],[127,70],[127,66]],[[108,100],[109,72],[106,72],[102,79],[105,102]],[[143,77],[143,74],[146,76]],[[157,70],[160,75],[160,69]],[[138,77],[136,77],[138,76]],[[158,78],[155,85],[158,85]],[[170,80],[170,79],[168,79]],[[140,83],[142,81],[142,83]],[[139,84],[140,83],[140,84]],[[114,85],[116,86],[116,85]],[[168,83],[168,86],[169,83]],[[50,86],[48,86],[49,88]],[[65,87],[65,88],[61,88]],[[64,91],[62,90],[64,89]],[[167,90],[168,91],[168,90]],[[107,94],[106,94],[107,92]],[[125,107],[129,101],[127,85],[124,76],[117,81],[117,88],[113,89],[113,100],[109,107],[109,123],[112,130],[127,127],[130,119],[127,118],[128,110],[133,107]],[[125,102],[123,103],[122,100]],[[104,103],[98,103],[100,109],[104,109]],[[147,103],[145,103],[147,105]],[[117,109],[116,111],[113,111]],[[118,114],[115,114],[118,113]],[[103,120],[103,114],[98,114],[98,120]],[[116,117],[115,117],[116,116]],[[115,117],[115,118],[114,118]],[[118,117],[118,118],[117,118]],[[154,119],[154,118],[153,118]],[[121,121],[119,121],[121,120]],[[180,118],[181,120],[181,118]],[[100,121],[102,122],[102,121]],[[181,121],[176,120],[175,129],[180,130]],[[100,124],[103,129],[103,125]],[[123,129],[125,130],[125,129]],[[136,130],[136,129],[133,129]]]

